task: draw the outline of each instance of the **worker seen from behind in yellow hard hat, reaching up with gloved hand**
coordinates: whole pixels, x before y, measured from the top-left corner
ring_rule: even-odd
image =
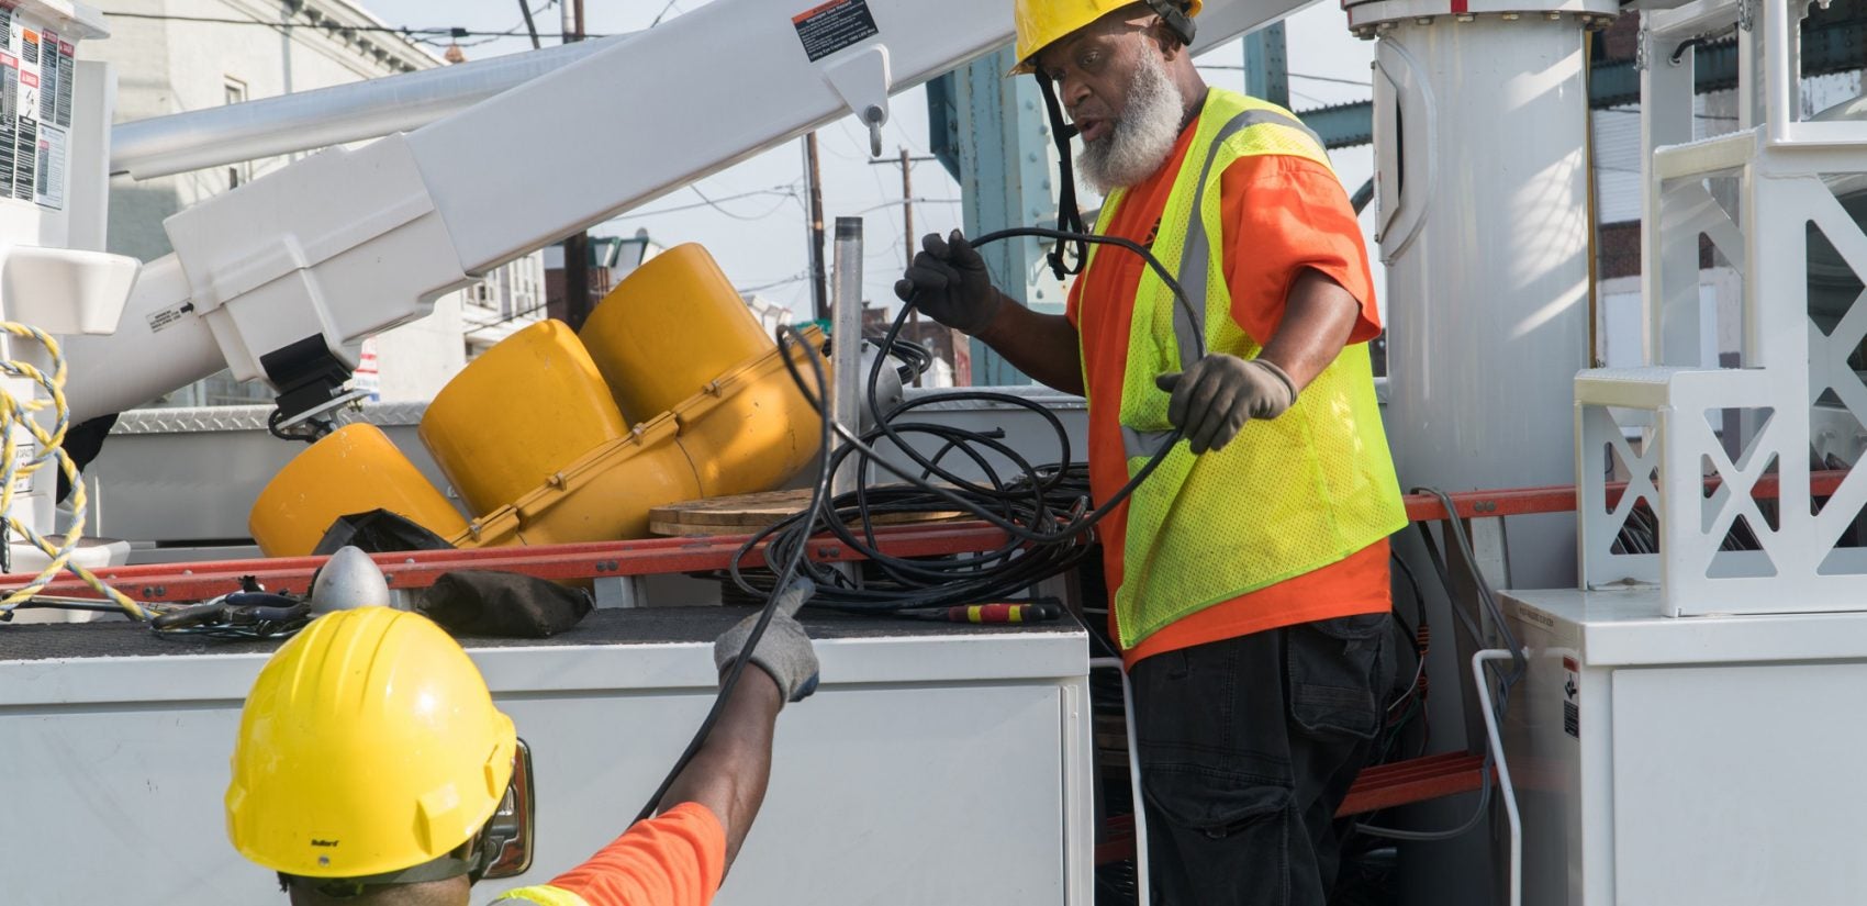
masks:
[[[723,672],[756,616],[715,643]],[[495,902],[709,902],[764,801],[777,714],[816,687],[810,639],[786,609],[751,661],[657,816]],[[480,878],[530,865],[530,790],[528,749],[467,652],[426,616],[360,607],[312,620],[260,671],[228,837],[278,872],[293,906],[467,906]]]

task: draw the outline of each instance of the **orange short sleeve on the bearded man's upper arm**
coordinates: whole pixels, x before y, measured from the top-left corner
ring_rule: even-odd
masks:
[[[1305,157],[1240,157],[1221,176],[1219,220],[1232,319],[1258,346],[1270,344],[1283,323],[1290,284],[1305,267],[1361,303],[1350,344],[1380,336],[1361,224],[1329,168]]]

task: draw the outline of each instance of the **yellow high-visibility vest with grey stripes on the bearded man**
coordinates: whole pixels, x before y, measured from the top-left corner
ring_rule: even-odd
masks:
[[[1154,377],[1191,368],[1195,336],[1204,336],[1210,353],[1253,359],[1260,351],[1232,319],[1225,250],[1215,245],[1225,235],[1219,179],[1232,161],[1251,155],[1329,166],[1322,142],[1288,110],[1208,92],[1152,247],[1161,263],[1176,267],[1193,310],[1174,303],[1152,267],[1143,267],[1135,295],[1120,400],[1130,476],[1172,430],[1169,394]],[[1107,232],[1122,198],[1122,191],[1109,194],[1098,234]],[[1406,508],[1374,400],[1369,346],[1354,344],[1277,418],[1253,418],[1223,450],[1204,456],[1174,445],[1141,482],[1128,504],[1122,587],[1115,592],[1120,643],[1133,648],[1189,613],[1337,562],[1402,527]]]

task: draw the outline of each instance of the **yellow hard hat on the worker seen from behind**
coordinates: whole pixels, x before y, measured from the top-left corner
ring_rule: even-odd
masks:
[[[306,878],[394,872],[467,842],[512,781],[512,719],[426,616],[358,607],[312,620],[241,712],[228,839]]]

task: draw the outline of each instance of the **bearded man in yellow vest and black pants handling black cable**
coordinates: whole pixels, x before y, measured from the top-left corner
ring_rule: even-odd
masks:
[[[1397,672],[1387,536],[1406,525],[1361,228],[1314,133],[1200,80],[1199,0],[1014,2],[1018,73],[1105,198],[1094,232],[1148,247],[1189,304],[1094,245],[1066,314],[1038,314],[958,232],[928,235],[896,293],[1088,398],[1098,503],[1184,433],[1100,527],[1154,902],[1322,906]]]

